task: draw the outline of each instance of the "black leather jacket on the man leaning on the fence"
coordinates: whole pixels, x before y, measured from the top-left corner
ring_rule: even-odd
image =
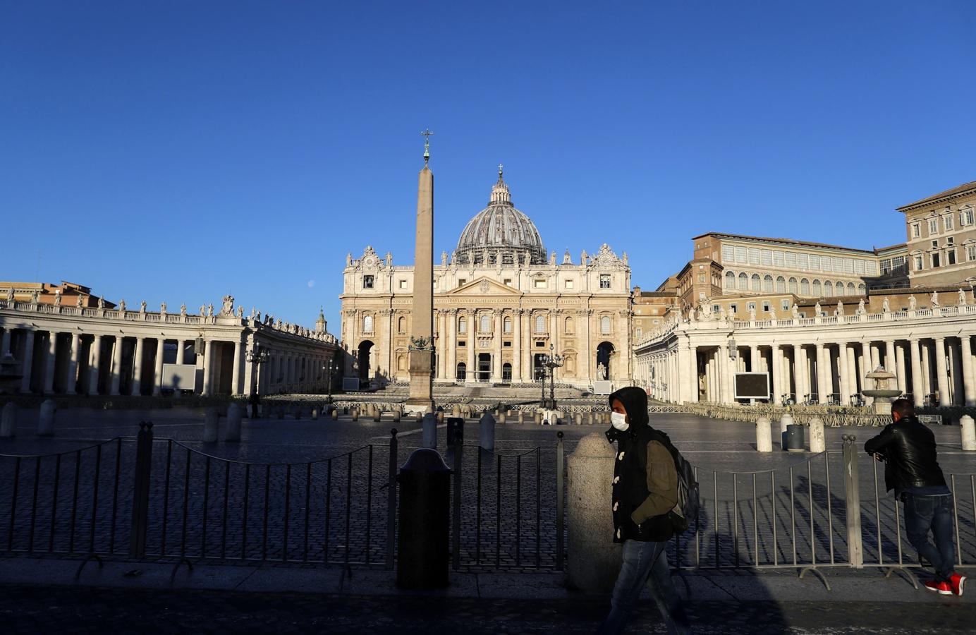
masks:
[[[946,478],[936,459],[935,435],[915,417],[884,427],[864,445],[869,454],[884,457],[884,487],[944,486]]]

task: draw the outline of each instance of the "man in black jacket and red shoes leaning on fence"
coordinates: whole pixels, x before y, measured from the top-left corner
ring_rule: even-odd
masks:
[[[936,460],[935,435],[915,418],[915,405],[891,404],[893,423],[869,439],[865,450],[884,461],[884,486],[905,504],[905,532],[918,555],[932,564],[935,577],[925,588],[942,595],[962,595],[966,578],[953,571],[953,492]],[[931,531],[933,545],[928,539]]]

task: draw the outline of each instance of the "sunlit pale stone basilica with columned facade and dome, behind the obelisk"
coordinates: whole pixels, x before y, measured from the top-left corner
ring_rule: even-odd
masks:
[[[342,341],[346,378],[409,381],[413,266],[367,246],[346,256]],[[602,244],[577,262],[547,255],[536,226],[511,201],[501,167],[488,206],[433,268],[434,382],[529,384],[548,355],[563,385],[589,388],[631,376],[630,267]]]

